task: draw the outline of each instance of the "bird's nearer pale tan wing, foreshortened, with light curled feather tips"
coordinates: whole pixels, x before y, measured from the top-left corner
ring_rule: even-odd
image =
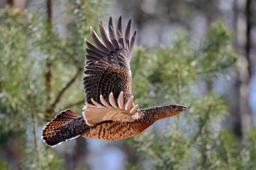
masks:
[[[91,98],[93,105],[86,104],[83,108],[83,116],[88,125],[95,125],[102,121],[133,121],[132,116],[137,112],[138,105],[132,107],[133,96],[130,97],[126,104],[124,104],[123,91],[119,94],[117,104],[114,99],[114,95],[111,92],[109,94],[109,103],[100,96],[100,101],[103,105],[98,104],[93,98]]]

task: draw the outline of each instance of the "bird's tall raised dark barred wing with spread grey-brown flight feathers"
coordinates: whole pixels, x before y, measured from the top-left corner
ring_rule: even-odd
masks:
[[[109,19],[109,37],[100,20],[99,30],[103,42],[99,39],[93,28],[91,35],[97,47],[88,40],[86,49],[85,77],[83,79],[86,93],[86,103],[93,104],[91,98],[100,103],[100,95],[108,99],[113,92],[117,102],[118,95],[124,92],[124,102],[132,96],[132,76],[130,70],[130,59],[135,42],[136,31],[129,41],[131,31],[131,19],[127,24],[123,38],[122,18],[120,16],[117,24],[117,33],[114,31],[112,18]],[[109,101],[107,100],[109,104]],[[133,105],[133,104],[132,104]]]

